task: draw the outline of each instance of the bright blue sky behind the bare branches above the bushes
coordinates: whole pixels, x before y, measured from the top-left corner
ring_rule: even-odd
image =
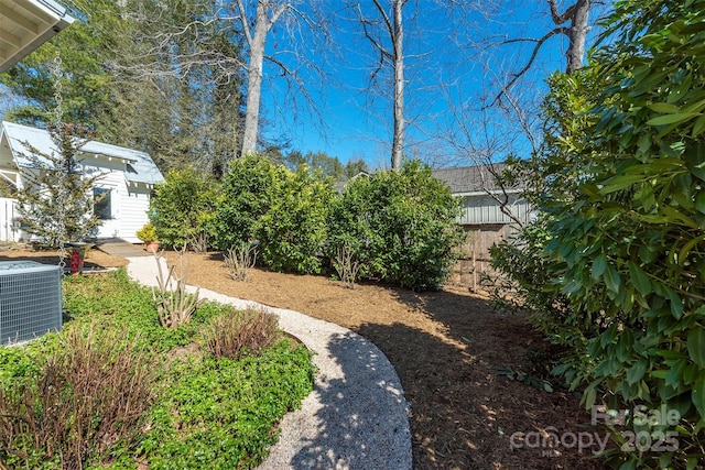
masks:
[[[293,29],[297,36],[292,40],[284,34],[290,30],[283,25],[274,28],[268,44],[270,53],[296,48],[323,70],[317,76],[291,56],[280,56],[301,72],[314,106],[302,106],[306,101],[302,94],[291,92],[275,67],[265,64],[261,117],[267,124],[261,131],[273,142],[289,142],[285,151],[322,151],[344,163],[364,159],[371,167],[388,166],[392,103],[380,94],[368,92],[370,72],[377,62],[375,50],[343,0],[311,0],[316,1],[335,25],[329,29],[329,44],[321,46],[317,35],[305,29]],[[560,10],[572,2],[558,0]],[[494,80],[523,65],[530,46],[478,44],[488,37],[497,43],[501,39],[541,36],[553,28],[545,1],[486,2],[498,6],[487,15],[451,11],[447,3],[417,0],[406,4],[405,154],[438,166],[471,164],[467,155],[484,145],[496,151],[494,160],[503,160],[512,152],[527,156],[528,144],[517,136],[516,123],[496,110],[480,112],[479,108],[482,96],[496,94]],[[375,11],[371,0],[361,0],[360,4],[366,12]],[[564,67],[565,46],[562,36],[545,44],[532,73],[514,87],[519,109],[530,109],[545,94],[544,79]],[[390,91],[391,81],[380,90]],[[0,108],[2,105],[7,106],[0,103]]]

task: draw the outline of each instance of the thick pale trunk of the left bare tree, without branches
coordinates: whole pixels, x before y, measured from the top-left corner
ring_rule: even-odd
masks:
[[[267,18],[267,2],[258,2],[254,29],[252,30],[250,46],[250,63],[247,79],[247,108],[245,111],[245,131],[242,135],[241,156],[257,150],[259,134],[260,98],[262,90],[262,67],[264,64],[264,44],[270,24]]]

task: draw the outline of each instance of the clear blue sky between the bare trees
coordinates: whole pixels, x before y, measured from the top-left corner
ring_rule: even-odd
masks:
[[[552,23],[545,2],[505,1],[500,2],[502,9],[490,18],[470,12],[462,21],[460,12],[448,14],[443,3],[432,0],[409,2],[405,11],[405,100],[410,121],[405,153],[436,163],[446,162],[438,164],[468,164],[463,159],[451,159],[451,154],[458,151],[440,134],[458,130],[458,119],[451,116],[458,110],[466,118],[460,119],[460,125],[466,127],[460,134],[485,132],[481,113],[477,112],[479,97],[495,92],[490,83],[501,79],[502,70],[518,69],[530,51],[530,46],[477,47],[470,43],[489,36],[494,36],[495,42],[501,37],[538,37],[552,28]],[[565,8],[564,4],[568,3],[560,2],[560,7]],[[416,4],[419,10],[415,10]],[[366,8],[365,1],[362,8]],[[384,166],[390,153],[391,101],[379,95],[366,94],[373,50],[362,37],[359,24],[345,19],[345,10],[340,11],[337,24],[343,29],[334,33],[337,55],[322,54],[312,48],[322,57],[317,65],[328,76],[319,81],[304,75],[308,90],[316,97],[316,111],[325,125],[322,127],[315,116],[304,110],[293,112],[286,85],[282,79],[275,79],[269,83],[262,96],[262,114],[270,122],[263,129],[264,135],[289,139],[292,150],[323,151],[343,162],[362,157],[371,166]],[[303,34],[303,40],[310,41]],[[273,39],[282,47],[285,39],[281,34]],[[531,99],[535,99],[546,90],[545,77],[564,67],[565,40],[556,36],[545,46],[534,70],[517,87],[519,95],[529,94]],[[272,67],[265,65],[265,73],[268,70],[271,72]],[[497,128],[492,127],[497,132],[502,123],[507,123],[501,117],[486,119],[499,123]],[[514,152],[525,153],[525,143],[520,140],[505,154],[512,147]]]

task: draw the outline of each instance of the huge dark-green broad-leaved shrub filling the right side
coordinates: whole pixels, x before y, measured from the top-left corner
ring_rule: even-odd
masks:
[[[705,458],[704,22],[705,0],[618,2],[609,44],[584,70],[553,77],[546,101],[546,237],[531,263],[546,266],[539,295],[564,306],[545,308],[542,326],[575,351],[556,372],[587,385],[588,407],[680,417],[627,417],[653,442],[675,433],[662,452],[611,426],[626,469]]]

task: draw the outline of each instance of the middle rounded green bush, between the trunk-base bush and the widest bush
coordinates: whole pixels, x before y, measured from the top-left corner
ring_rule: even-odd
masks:
[[[254,222],[262,260],[274,271],[319,273],[333,188],[305,166],[284,171],[269,209]]]

